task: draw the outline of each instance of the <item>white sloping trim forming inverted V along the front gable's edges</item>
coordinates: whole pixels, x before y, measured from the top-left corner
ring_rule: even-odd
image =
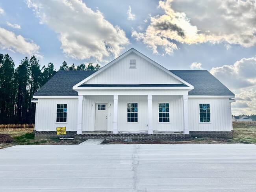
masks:
[[[128,50],[127,52],[123,53],[122,55],[120,55],[119,57],[117,57],[116,59],[114,59],[113,61],[111,61],[110,63],[108,63],[107,65],[103,66],[102,68],[100,68],[100,70],[96,71],[93,75],[83,79],[83,81],[77,83],[76,85],[74,85],[73,89],[77,90],[79,89],[78,87],[80,87],[81,85],[83,85],[85,82],[89,81],[89,79],[92,79],[93,77],[95,77],[96,75],[104,72],[106,69],[110,68],[112,65],[114,65],[115,63],[117,63],[119,60],[121,60],[122,58],[126,57],[127,55],[134,53],[139,55],[140,57],[142,57],[143,59],[145,59],[146,61],[148,61],[149,63],[151,63],[152,65],[156,66],[158,69],[164,71],[165,73],[167,73],[169,76],[177,79],[178,81],[180,81],[182,84],[187,85],[187,87],[193,89],[193,85],[191,85],[190,83],[188,83],[187,81],[185,81],[184,79],[176,76],[175,74],[173,74],[171,71],[167,70],[166,68],[164,68],[163,66],[161,66],[160,64],[156,63],[155,61],[153,61],[152,59],[148,58],[146,55],[143,55],[141,52],[135,50],[134,48],[131,48],[130,50]]]

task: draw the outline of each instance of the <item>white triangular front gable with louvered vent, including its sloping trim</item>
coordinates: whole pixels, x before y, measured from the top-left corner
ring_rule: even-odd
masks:
[[[193,89],[192,85],[133,48],[76,84],[73,89],[77,89],[82,85],[106,84],[176,84],[177,86],[182,84]]]

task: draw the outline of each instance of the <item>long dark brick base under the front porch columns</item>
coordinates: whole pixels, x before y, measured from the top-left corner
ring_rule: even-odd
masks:
[[[106,140],[125,140],[131,139],[132,141],[189,141],[191,140],[188,134],[148,134],[148,133],[86,133],[77,134],[76,140],[87,139],[106,139]]]

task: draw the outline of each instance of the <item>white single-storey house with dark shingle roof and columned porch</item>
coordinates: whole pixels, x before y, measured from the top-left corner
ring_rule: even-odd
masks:
[[[35,132],[232,137],[234,97],[207,70],[167,70],[132,48],[98,71],[56,73],[33,96]]]

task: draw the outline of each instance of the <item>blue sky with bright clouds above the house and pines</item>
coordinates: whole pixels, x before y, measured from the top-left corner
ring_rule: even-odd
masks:
[[[169,70],[206,69],[256,114],[254,0],[0,0],[0,53],[15,66],[99,63],[135,48]],[[204,81],[204,79],[202,79]]]

